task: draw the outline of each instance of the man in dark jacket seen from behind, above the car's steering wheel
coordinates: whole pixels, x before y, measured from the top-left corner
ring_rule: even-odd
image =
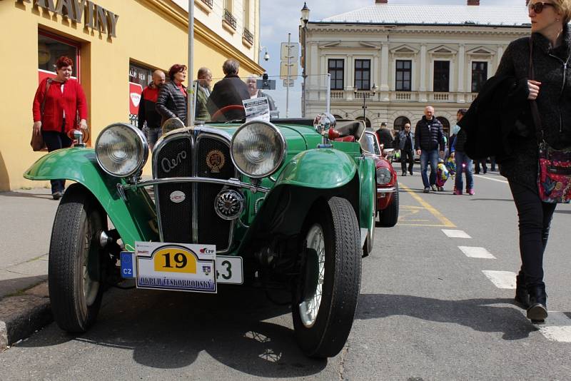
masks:
[[[208,98],[208,112],[212,121],[235,121],[246,118],[242,101],[250,99],[248,85],[238,76],[240,64],[228,59],[222,65],[224,78],[214,85]],[[225,108],[222,112],[219,110]]]

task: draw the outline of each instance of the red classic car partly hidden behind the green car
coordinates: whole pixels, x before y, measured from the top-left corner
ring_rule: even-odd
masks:
[[[377,214],[380,226],[390,227],[398,221],[398,179],[390,164],[393,149],[383,149],[373,131],[365,131],[361,148],[367,156],[375,160],[377,178]]]

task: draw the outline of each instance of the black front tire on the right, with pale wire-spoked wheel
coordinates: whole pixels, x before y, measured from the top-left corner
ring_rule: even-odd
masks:
[[[305,275],[304,265],[304,275],[294,296],[296,302],[292,305],[293,327],[295,339],[305,355],[333,357],[347,342],[359,297],[362,248],[353,206],[344,198],[333,197],[313,208],[303,228],[304,248],[311,245],[307,239],[310,233],[318,229],[321,229],[324,245],[320,303],[315,303],[318,310],[313,322],[308,324],[305,319],[304,323],[303,318],[308,315],[302,312],[302,305],[311,300],[303,296],[310,278]],[[313,279],[315,284],[318,283],[316,278]],[[318,293],[316,290],[315,295]]]

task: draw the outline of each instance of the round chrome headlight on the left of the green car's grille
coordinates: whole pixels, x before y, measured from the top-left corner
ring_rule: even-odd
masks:
[[[97,137],[95,156],[106,173],[128,177],[145,166],[148,145],[138,128],[126,123],[114,123],[104,128]]]

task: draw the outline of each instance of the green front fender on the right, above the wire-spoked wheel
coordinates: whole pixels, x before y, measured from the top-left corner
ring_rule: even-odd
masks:
[[[360,221],[360,238],[364,243],[368,229],[374,227],[373,160],[365,158],[355,163],[347,153],[322,149],[305,151],[292,161],[278,177],[276,186],[266,195],[238,253],[252,253],[264,242],[271,242],[278,236],[298,235],[313,205],[333,196],[345,198],[353,205]],[[300,168],[302,166],[307,168]],[[325,176],[320,176],[323,173]],[[363,188],[367,188],[367,191],[360,188],[360,183],[365,179]],[[362,198],[366,200],[364,207],[361,205]],[[362,216],[368,221],[363,221]]]

